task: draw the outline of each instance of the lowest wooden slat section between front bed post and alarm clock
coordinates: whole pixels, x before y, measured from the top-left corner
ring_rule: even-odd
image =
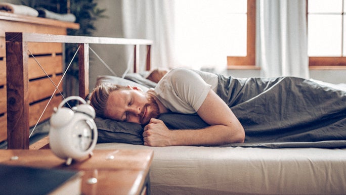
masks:
[[[29,125],[30,125],[30,127],[33,127],[37,123],[37,120],[41,116],[42,112],[45,110],[45,107],[46,107],[48,101],[49,100],[45,100],[45,101],[30,105],[30,107],[29,107]],[[42,116],[42,118],[39,122],[44,122],[47,119],[49,119],[53,114],[54,107],[57,107],[61,101],[62,101],[61,95],[54,96],[52,101],[48,105],[46,112],[44,113],[44,115]]]

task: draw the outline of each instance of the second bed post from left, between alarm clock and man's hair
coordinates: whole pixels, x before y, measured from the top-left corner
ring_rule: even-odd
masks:
[[[85,98],[89,94],[89,43],[80,43],[78,51],[79,96]]]

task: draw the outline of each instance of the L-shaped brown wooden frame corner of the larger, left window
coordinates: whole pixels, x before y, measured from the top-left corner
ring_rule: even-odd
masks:
[[[256,46],[256,0],[247,0],[246,56],[227,56],[227,67],[255,68]]]

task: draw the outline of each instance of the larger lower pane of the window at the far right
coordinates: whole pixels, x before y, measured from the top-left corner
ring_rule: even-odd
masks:
[[[308,55],[341,56],[341,15],[309,15]]]

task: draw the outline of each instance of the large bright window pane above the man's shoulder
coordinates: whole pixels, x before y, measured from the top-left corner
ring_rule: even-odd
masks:
[[[178,63],[226,64],[227,55],[246,56],[246,11],[246,0],[175,1]]]

